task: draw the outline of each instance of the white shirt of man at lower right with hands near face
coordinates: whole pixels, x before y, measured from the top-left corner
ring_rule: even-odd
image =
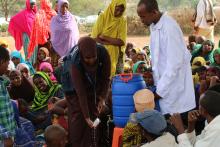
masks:
[[[220,115],[213,119],[202,131],[201,135],[196,136],[195,131],[184,133],[178,136],[178,147],[219,147],[220,144]]]

